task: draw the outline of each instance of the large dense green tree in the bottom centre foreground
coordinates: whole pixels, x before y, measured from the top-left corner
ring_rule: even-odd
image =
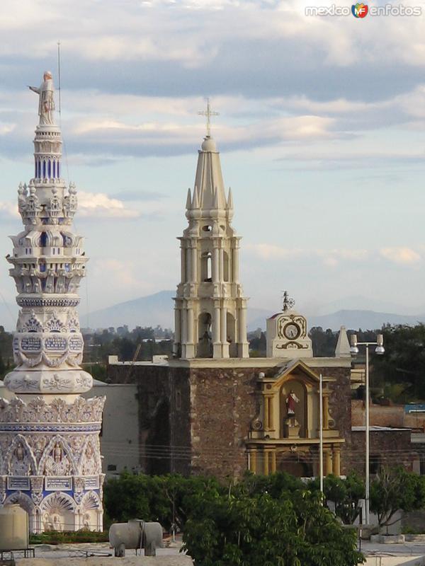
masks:
[[[183,534],[197,566],[354,566],[356,532],[344,529],[318,493],[273,499],[239,495],[205,499]]]

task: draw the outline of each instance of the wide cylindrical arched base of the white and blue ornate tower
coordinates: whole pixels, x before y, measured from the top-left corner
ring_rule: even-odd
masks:
[[[23,507],[30,532],[103,530],[103,403],[0,400],[0,503]]]

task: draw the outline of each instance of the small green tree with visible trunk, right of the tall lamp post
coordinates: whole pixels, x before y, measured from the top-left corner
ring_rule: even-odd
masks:
[[[390,526],[395,513],[425,507],[425,478],[407,472],[402,466],[381,468],[370,483],[370,510],[378,515],[380,526]]]

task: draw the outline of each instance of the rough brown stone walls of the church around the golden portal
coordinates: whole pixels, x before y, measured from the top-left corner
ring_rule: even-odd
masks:
[[[141,469],[240,477],[247,468],[244,439],[259,410],[259,371],[274,376],[279,366],[108,366],[113,383],[137,383]],[[336,379],[330,384],[329,412],[346,439],[341,454],[341,473],[346,473],[351,447],[349,368],[314,367],[314,371]]]

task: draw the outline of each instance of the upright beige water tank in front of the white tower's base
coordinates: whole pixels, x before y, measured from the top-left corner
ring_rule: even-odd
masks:
[[[0,509],[0,550],[28,548],[28,513],[19,505]]]

